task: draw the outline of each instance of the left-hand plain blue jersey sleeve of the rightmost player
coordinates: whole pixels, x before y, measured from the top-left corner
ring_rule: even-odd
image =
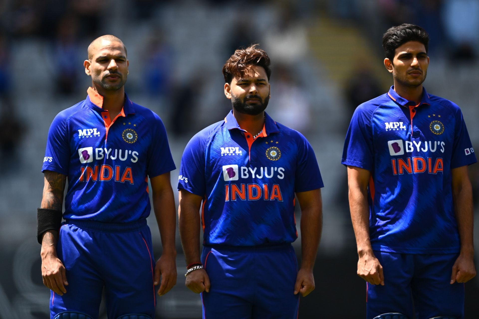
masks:
[[[359,106],[349,124],[341,164],[367,169],[373,168],[373,134],[371,129],[372,112]]]

